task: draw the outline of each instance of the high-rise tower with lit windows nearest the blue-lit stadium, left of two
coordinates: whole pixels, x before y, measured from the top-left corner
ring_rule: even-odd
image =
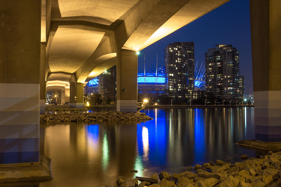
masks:
[[[175,42],[165,48],[166,88],[173,98],[190,98],[194,90],[194,43]]]

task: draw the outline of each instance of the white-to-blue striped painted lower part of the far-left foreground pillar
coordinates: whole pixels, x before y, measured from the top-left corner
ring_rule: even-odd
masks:
[[[0,164],[39,161],[39,84],[0,84]]]

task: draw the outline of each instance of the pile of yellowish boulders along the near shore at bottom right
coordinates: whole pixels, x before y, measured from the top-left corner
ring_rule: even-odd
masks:
[[[246,155],[241,156],[243,158],[244,161],[234,164],[220,160],[215,164],[196,164],[193,172],[187,170],[170,175],[162,171],[158,175],[160,182],[155,173],[150,178],[136,177],[131,181],[119,177],[116,183],[119,187],[281,187],[281,151],[269,151],[260,158]]]

